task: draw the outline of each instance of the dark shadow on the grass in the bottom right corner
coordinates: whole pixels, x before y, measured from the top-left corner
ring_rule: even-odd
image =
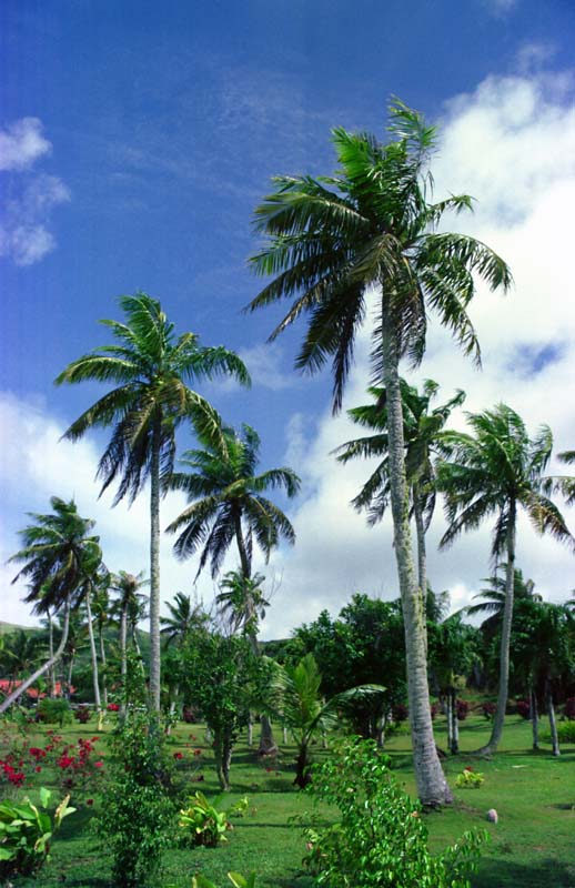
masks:
[[[501,858],[483,857],[480,871],[473,877],[472,888],[573,888],[575,865],[559,864],[554,859],[542,859],[531,864],[517,864]]]

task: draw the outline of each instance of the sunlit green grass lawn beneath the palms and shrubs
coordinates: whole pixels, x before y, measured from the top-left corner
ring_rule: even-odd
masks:
[[[445,746],[443,719],[437,719],[437,743]],[[67,739],[77,740],[93,733],[88,726],[65,728]],[[104,731],[109,730],[104,728]],[[201,746],[202,783],[208,796],[218,793],[211,764],[211,751],[203,743],[203,730],[180,725],[172,738],[174,753],[185,750],[190,760],[192,745]],[[485,775],[480,789],[455,789],[455,804],[441,813],[426,815],[431,845],[440,849],[454,841],[465,829],[486,827],[491,841],[485,847],[474,888],[575,888],[575,747],[566,747],[561,758],[553,758],[548,747],[529,751],[529,725],[518,717],[507,719],[501,751],[492,760],[471,755],[487,738],[488,724],[470,717],[461,731],[462,753],[445,760],[450,785],[456,775],[471,765]],[[36,739],[31,738],[32,744]],[[46,738],[44,738],[46,739]],[[323,755],[315,747],[319,758]],[[390,739],[387,751],[399,780],[414,791],[408,735]],[[190,888],[191,876],[201,870],[216,885],[229,885],[230,869],[259,874],[259,888],[309,888],[310,879],[301,871],[304,840],[301,830],[290,823],[294,815],[311,810],[310,799],[292,787],[293,747],[286,747],[276,765],[261,765],[244,744],[236,748],[232,765],[233,791],[230,801],[248,795],[250,810],[234,820],[229,841],[215,849],[170,850],[164,859],[164,886]],[[182,764],[182,767],[184,765]],[[195,775],[198,776],[198,775]],[[44,775],[42,775],[44,777]],[[46,783],[46,780],[44,780]],[[31,791],[33,797],[34,793]],[[110,885],[110,861],[89,821],[98,808],[80,805],[64,821],[53,845],[53,859],[36,880],[21,880],[22,888],[104,888]],[[497,825],[487,824],[485,813],[495,808]],[[323,811],[329,817],[327,811]],[[137,813],[134,811],[134,816]]]

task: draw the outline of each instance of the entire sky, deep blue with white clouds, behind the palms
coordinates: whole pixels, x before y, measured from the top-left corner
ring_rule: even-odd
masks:
[[[574,39],[571,0],[4,0],[2,562],[24,513],[57,494],[98,517],[113,569],[145,567],[144,500],[115,514],[95,502],[102,438],[58,444],[97,390],[52,385],[105,341],[97,322],[118,316],[114,297],[142,289],[178,330],[242,353],[252,391],[205,393],[228,421],[256,427],[263,465],[290,461],[304,478],[291,506],[299,544],[264,569],[278,587],[269,633],[336,609],[356,588],[395,595],[389,527],[367,531],[346,505],[366,470],[344,477],[327,455],[350,436],[345,418],[330,418],[329,377],[292,372],[301,330],[264,345],[275,311],[241,314],[258,291],[250,220],[270,176],[330,172],[330,129],[383,135],[392,94],[442,124],[437,190],[477,198],[465,230],[516,280],[504,307],[478,294],[482,376],[437,332],[418,379],[438,379],[445,396],[466,389],[473,410],[505,400],[573,447],[571,240],[559,248],[573,232]],[[365,389],[364,353],[360,342],[346,406]],[[165,523],[178,507],[165,503]],[[572,556],[525,533],[525,569],[561,598],[575,585]],[[174,565],[163,546],[171,598],[191,591],[195,568]],[[487,551],[485,528],[432,559],[435,587],[466,599],[488,573]],[[12,573],[2,568],[0,617],[23,620]]]

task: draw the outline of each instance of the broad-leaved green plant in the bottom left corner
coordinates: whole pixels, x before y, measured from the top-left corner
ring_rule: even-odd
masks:
[[[20,803],[0,803],[0,881],[13,876],[31,876],[50,859],[50,840],[64,817],[75,808],[68,806],[65,796],[54,811],[53,819],[47,808],[52,794],[40,789],[40,805],[28,797]],[[41,810],[42,809],[42,810]]]

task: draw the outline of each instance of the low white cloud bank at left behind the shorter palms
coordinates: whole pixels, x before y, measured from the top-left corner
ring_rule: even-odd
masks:
[[[132,505],[120,503],[111,508],[113,493],[98,498],[100,484],[94,481],[99,450],[93,440],[75,444],[61,441],[64,426],[46,412],[40,401],[21,401],[0,393],[0,497],[3,504],[0,582],[2,607],[0,618],[30,625],[29,607],[21,598],[24,587],[11,585],[17,566],[6,561],[20,548],[18,531],[29,519],[28,512],[50,512],[50,497],[74,498],[78,511],[97,522],[94,533],[101,538],[104,561],[111,571],[125,569],[148,574],[149,566],[149,494],[144,491]],[[26,494],[23,493],[26,492]],[[184,500],[170,494],[162,502],[162,526],[184,507]],[[198,569],[195,559],[180,563],[172,556],[170,537],[161,541],[162,601],[170,601],[179,589],[193,591]],[[229,567],[233,566],[232,564]],[[226,568],[228,569],[228,566]],[[198,592],[209,603],[213,584],[209,577],[198,584]]]

